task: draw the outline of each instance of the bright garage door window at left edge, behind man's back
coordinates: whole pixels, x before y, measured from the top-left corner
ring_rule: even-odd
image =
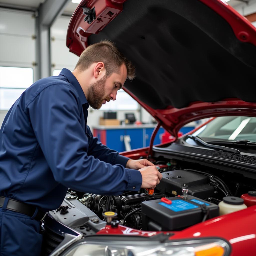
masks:
[[[8,110],[31,84],[33,69],[0,67],[0,110]]]

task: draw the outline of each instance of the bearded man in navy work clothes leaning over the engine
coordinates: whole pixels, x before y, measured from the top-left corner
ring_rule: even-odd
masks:
[[[0,134],[1,256],[40,255],[40,220],[68,188],[119,195],[154,188],[162,175],[101,144],[86,125],[89,105],[116,99],[135,68],[110,41],[89,46],[73,72],[35,82],[8,111]]]

